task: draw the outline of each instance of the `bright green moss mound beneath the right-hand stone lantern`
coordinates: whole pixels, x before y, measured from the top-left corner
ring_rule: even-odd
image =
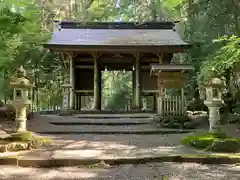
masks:
[[[240,150],[240,139],[232,138],[224,133],[205,133],[201,135],[188,136],[182,143],[195,149],[212,152],[238,152]]]

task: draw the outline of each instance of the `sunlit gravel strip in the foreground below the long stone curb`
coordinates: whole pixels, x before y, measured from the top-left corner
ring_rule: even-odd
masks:
[[[157,163],[92,167],[19,168],[0,166],[1,180],[239,180],[240,165]]]

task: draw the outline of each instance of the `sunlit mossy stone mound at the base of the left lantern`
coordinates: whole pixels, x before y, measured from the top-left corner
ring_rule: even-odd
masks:
[[[52,144],[48,137],[41,137],[32,132],[14,133],[8,137],[0,139],[0,151],[19,151],[32,148],[38,148],[43,145]]]

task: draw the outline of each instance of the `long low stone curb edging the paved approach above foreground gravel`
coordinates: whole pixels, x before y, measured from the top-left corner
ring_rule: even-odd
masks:
[[[184,155],[172,155],[172,156],[152,156],[152,157],[136,157],[136,158],[84,158],[84,159],[0,159],[0,165],[16,165],[20,167],[64,167],[64,166],[79,166],[79,165],[95,165],[99,163],[109,165],[121,165],[121,164],[145,164],[153,162],[178,162],[178,163],[201,163],[201,164],[237,164],[240,163],[240,158],[229,157],[186,157]]]

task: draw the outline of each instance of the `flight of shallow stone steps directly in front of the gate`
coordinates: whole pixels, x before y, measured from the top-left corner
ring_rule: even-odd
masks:
[[[33,125],[31,131],[41,134],[169,134],[189,130],[159,129],[152,123],[154,114],[81,114],[48,115],[48,122]]]

